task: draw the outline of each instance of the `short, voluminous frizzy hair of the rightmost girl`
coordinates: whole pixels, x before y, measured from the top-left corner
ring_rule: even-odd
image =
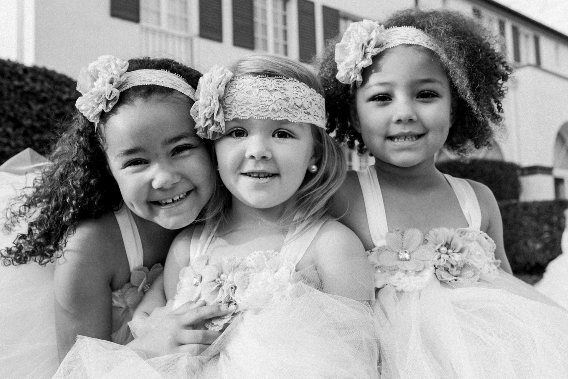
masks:
[[[387,19],[384,26],[418,28],[445,54],[442,66],[456,103],[456,119],[444,147],[465,156],[472,149],[490,145],[494,133],[502,128],[501,101],[507,91],[504,84],[512,72],[504,55],[496,49],[495,37],[477,20],[447,10],[402,10]],[[315,62],[325,88],[327,128],[338,141],[352,149],[357,147],[362,153],[366,150],[364,141],[351,126],[350,118],[356,91],[335,78],[338,41],[339,38],[330,41]],[[463,80],[456,80],[458,73],[465,76]]]

